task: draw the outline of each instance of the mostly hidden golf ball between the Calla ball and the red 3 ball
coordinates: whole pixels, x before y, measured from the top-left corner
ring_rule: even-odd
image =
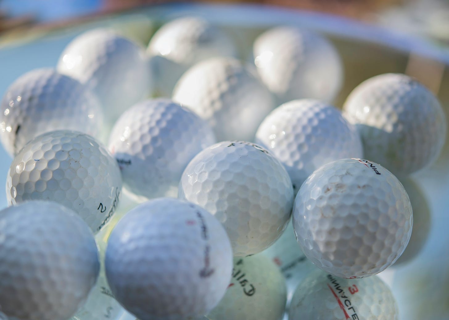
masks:
[[[279,267],[287,284],[287,309],[296,287],[317,267],[304,255],[296,241],[291,220],[282,236],[260,253],[266,255]]]

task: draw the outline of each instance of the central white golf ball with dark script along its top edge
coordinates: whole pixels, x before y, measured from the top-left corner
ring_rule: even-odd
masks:
[[[252,255],[285,229],[293,204],[290,177],[262,147],[224,141],[201,151],[181,176],[179,197],[225,226],[234,256]]]

